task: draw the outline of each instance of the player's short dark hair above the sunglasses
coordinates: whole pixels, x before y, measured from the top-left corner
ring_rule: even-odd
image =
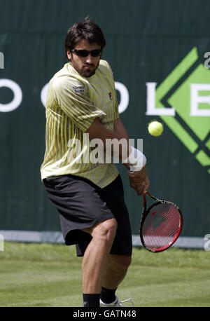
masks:
[[[106,46],[102,30],[88,17],[83,22],[76,22],[69,28],[65,40],[66,50],[74,49],[76,43],[83,39],[89,41],[90,44],[97,43],[102,49]]]

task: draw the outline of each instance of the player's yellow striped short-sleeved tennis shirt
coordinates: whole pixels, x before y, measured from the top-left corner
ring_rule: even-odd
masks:
[[[45,155],[41,179],[78,175],[103,188],[118,176],[113,163],[90,161],[87,156],[93,148],[84,136],[94,118],[99,117],[106,128],[113,130],[113,121],[119,117],[116,89],[108,62],[100,60],[95,74],[89,78],[78,74],[70,62],[64,64],[49,82],[45,114]]]

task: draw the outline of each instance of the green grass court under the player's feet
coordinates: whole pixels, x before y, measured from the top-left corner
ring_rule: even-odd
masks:
[[[209,259],[204,250],[174,247],[153,254],[134,247],[118,297],[134,298],[134,307],[209,307]],[[81,261],[74,246],[6,242],[0,306],[82,307]]]

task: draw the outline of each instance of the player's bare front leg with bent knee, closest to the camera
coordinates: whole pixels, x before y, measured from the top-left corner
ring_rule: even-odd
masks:
[[[109,252],[117,229],[116,219],[107,219],[83,231],[92,235],[83,256],[83,297],[88,301],[90,294],[100,294],[102,278],[107,268]],[[99,301],[99,299],[98,299]],[[87,302],[87,306],[90,306]]]

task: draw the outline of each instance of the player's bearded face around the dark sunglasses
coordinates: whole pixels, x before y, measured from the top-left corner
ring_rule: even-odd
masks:
[[[75,48],[76,50],[98,50],[101,49],[97,43],[90,45],[87,40],[81,40],[76,43]],[[71,66],[76,69],[76,71],[84,77],[90,77],[94,75],[97,67],[99,66],[99,61],[101,55],[97,57],[92,57],[92,55],[87,55],[86,57],[80,57],[76,55],[76,53],[71,53],[69,50],[66,50],[67,57],[71,62]]]

